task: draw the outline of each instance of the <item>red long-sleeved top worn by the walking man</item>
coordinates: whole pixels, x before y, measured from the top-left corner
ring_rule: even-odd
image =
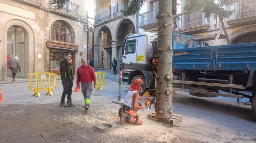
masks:
[[[90,65],[86,65],[85,67],[83,67],[83,65],[79,66],[77,68],[77,77],[76,77],[77,86],[80,85],[80,82],[87,83],[91,81],[93,81],[94,85],[97,84],[96,76],[93,68]]]

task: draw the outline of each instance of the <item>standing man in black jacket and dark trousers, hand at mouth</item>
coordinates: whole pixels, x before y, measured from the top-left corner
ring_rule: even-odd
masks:
[[[71,69],[71,63],[72,63],[72,55],[70,53],[66,53],[66,56],[59,62],[60,78],[61,78],[61,83],[63,85],[63,92],[60,100],[60,106],[62,107],[67,107],[67,106],[76,107],[72,103],[72,99],[71,99],[73,80],[74,80],[72,69]],[[67,94],[68,94],[67,96],[68,102],[66,105],[65,97]]]

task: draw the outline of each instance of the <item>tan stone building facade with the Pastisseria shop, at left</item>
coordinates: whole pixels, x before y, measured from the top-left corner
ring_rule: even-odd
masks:
[[[18,56],[21,72],[59,72],[59,61],[72,55],[76,73],[87,55],[87,10],[82,0],[71,0],[61,10],[49,0],[2,0],[0,2],[0,80],[11,77],[8,61]],[[83,54],[82,54],[83,53]]]

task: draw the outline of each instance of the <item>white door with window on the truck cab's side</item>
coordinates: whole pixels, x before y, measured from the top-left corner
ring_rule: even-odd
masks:
[[[130,38],[124,49],[123,62],[124,63],[136,63],[136,47],[137,47],[138,37]]]

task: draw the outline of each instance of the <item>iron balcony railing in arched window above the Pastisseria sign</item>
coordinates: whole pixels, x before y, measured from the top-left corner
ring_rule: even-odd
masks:
[[[75,44],[75,35],[69,33],[63,33],[55,30],[50,30],[50,40]]]

